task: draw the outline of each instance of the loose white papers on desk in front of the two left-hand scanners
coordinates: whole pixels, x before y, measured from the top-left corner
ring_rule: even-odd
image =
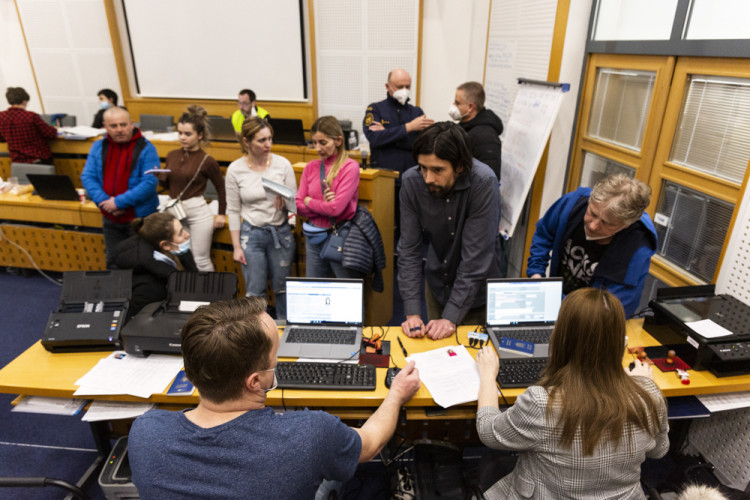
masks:
[[[152,354],[148,358],[115,351],[76,381],[74,396],[161,394],[182,368],[182,357]]]

